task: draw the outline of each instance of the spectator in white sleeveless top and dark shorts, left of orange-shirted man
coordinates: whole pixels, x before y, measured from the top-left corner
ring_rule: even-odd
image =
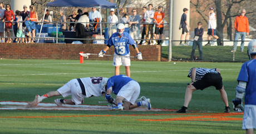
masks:
[[[211,7],[209,11],[209,21],[208,21],[208,43],[205,45],[211,45],[210,40],[211,36],[213,36],[215,39],[217,39],[218,46],[223,46],[223,43],[221,42],[221,39],[216,36],[216,14],[214,13],[214,8]]]

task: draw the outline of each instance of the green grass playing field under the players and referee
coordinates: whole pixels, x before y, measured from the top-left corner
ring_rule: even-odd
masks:
[[[131,62],[131,78],[153,108],[183,106],[191,67],[220,68],[229,106],[235,97],[242,63]],[[112,61],[0,59],[0,101],[31,102],[35,95],[55,91],[73,78],[111,77]],[[125,74],[121,67],[121,74]],[[43,100],[54,103],[56,98]],[[67,97],[71,98],[71,97]],[[104,97],[85,98],[84,105]],[[0,105],[0,107],[10,107]],[[0,110],[0,133],[245,133],[242,114],[223,114],[224,103],[214,87],[193,92],[186,114],[173,111]],[[232,110],[233,112],[233,110]],[[234,120],[233,120],[234,119]]]

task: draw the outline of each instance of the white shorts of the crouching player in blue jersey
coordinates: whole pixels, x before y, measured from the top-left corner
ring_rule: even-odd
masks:
[[[121,90],[117,93],[116,96],[122,96],[125,98],[124,101],[130,102],[134,105],[135,101],[140,95],[140,85],[136,81],[128,82]]]

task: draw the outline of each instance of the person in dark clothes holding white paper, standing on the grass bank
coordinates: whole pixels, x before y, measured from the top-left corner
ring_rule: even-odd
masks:
[[[201,22],[198,22],[198,27],[195,28],[195,36],[194,36],[194,42],[193,42],[193,47],[192,47],[192,52],[191,52],[191,56],[190,56],[190,59],[196,59],[194,57],[194,54],[195,54],[195,49],[196,49],[196,46],[198,46],[198,49],[199,49],[199,54],[200,54],[200,59],[199,60],[203,60],[203,51],[202,51],[202,42],[203,41],[203,34],[204,34],[204,28],[201,28],[202,27],[202,23]]]

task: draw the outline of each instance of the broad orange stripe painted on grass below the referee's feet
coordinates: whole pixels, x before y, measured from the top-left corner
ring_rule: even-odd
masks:
[[[189,117],[179,117],[179,118],[165,118],[158,120],[139,120],[139,121],[242,121],[243,118],[230,118],[225,116],[236,116],[243,115],[243,113],[214,113],[205,116],[189,116]],[[202,119],[202,118],[212,118],[212,119]]]

